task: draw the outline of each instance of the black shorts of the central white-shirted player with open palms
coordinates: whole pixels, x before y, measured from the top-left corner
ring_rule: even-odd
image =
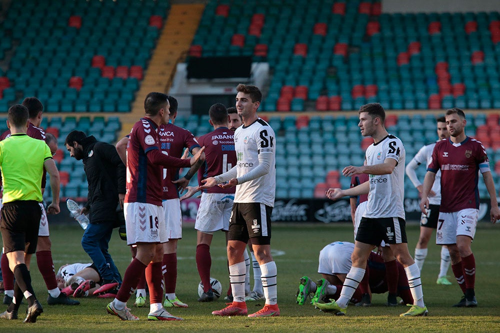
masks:
[[[272,207],[258,202],[234,203],[229,220],[230,241],[271,244]]]

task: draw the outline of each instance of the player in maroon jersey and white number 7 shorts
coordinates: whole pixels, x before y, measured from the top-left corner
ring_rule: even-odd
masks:
[[[475,260],[470,245],[479,212],[478,172],[482,173],[489,194],[492,223],[500,219],[500,210],[486,149],[482,143],[465,135],[466,120],[462,110],[456,107],[448,109],[445,118],[450,137],[434,146],[432,161],[423,180],[420,209],[424,213],[429,208],[429,192],[436,172],[441,170],[436,244],[448,247],[451,269],[463,292],[462,299],[453,307],[476,307]]]

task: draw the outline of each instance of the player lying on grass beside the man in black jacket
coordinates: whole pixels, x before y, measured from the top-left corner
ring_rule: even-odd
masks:
[[[67,296],[87,297],[95,295],[100,298],[116,296],[116,283],[102,284],[102,278],[93,263],[65,264],[55,275],[57,286]]]

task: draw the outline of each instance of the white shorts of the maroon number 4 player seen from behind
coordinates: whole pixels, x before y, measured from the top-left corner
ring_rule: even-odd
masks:
[[[194,229],[204,233],[229,230],[234,194],[202,193]]]

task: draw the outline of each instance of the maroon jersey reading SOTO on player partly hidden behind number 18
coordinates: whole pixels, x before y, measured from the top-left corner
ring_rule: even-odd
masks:
[[[163,154],[180,158],[184,148],[192,151],[193,148],[199,147],[198,142],[191,132],[182,127],[173,124],[161,125],[158,130],[160,149]],[[169,200],[179,197],[177,185],[172,183],[172,180],[179,179],[179,169],[163,169],[162,172],[162,190],[161,199]]]

